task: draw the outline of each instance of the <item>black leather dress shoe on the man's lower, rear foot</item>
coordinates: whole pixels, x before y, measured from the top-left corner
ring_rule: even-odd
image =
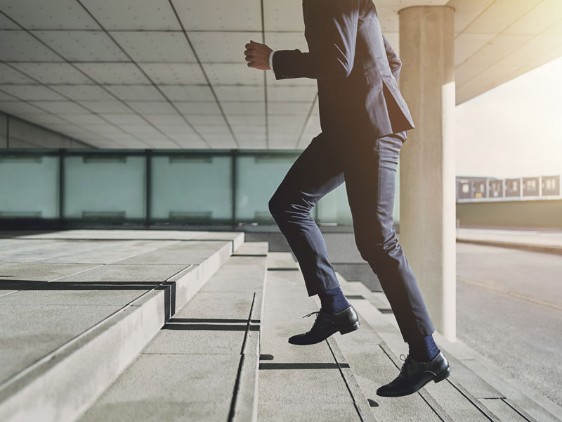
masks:
[[[403,357],[403,354],[400,354]],[[449,361],[439,351],[430,362],[417,362],[408,355],[400,369],[400,374],[390,383],[377,389],[377,395],[382,397],[400,397],[417,392],[421,387],[433,380],[434,383],[443,381],[450,376]]]

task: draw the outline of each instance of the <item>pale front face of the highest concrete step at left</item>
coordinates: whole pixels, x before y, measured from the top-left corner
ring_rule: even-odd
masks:
[[[181,309],[241,245],[226,240],[200,264],[183,269],[0,385],[0,420],[77,418],[138,356],[174,309]]]

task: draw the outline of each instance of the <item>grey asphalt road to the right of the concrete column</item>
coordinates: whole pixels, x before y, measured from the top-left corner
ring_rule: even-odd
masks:
[[[562,406],[562,256],[457,243],[457,336]]]

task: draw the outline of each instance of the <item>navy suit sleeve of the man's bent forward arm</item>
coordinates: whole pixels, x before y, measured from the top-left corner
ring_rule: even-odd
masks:
[[[310,51],[276,50],[275,79],[348,77],[355,58],[358,0],[303,0],[303,13]]]

